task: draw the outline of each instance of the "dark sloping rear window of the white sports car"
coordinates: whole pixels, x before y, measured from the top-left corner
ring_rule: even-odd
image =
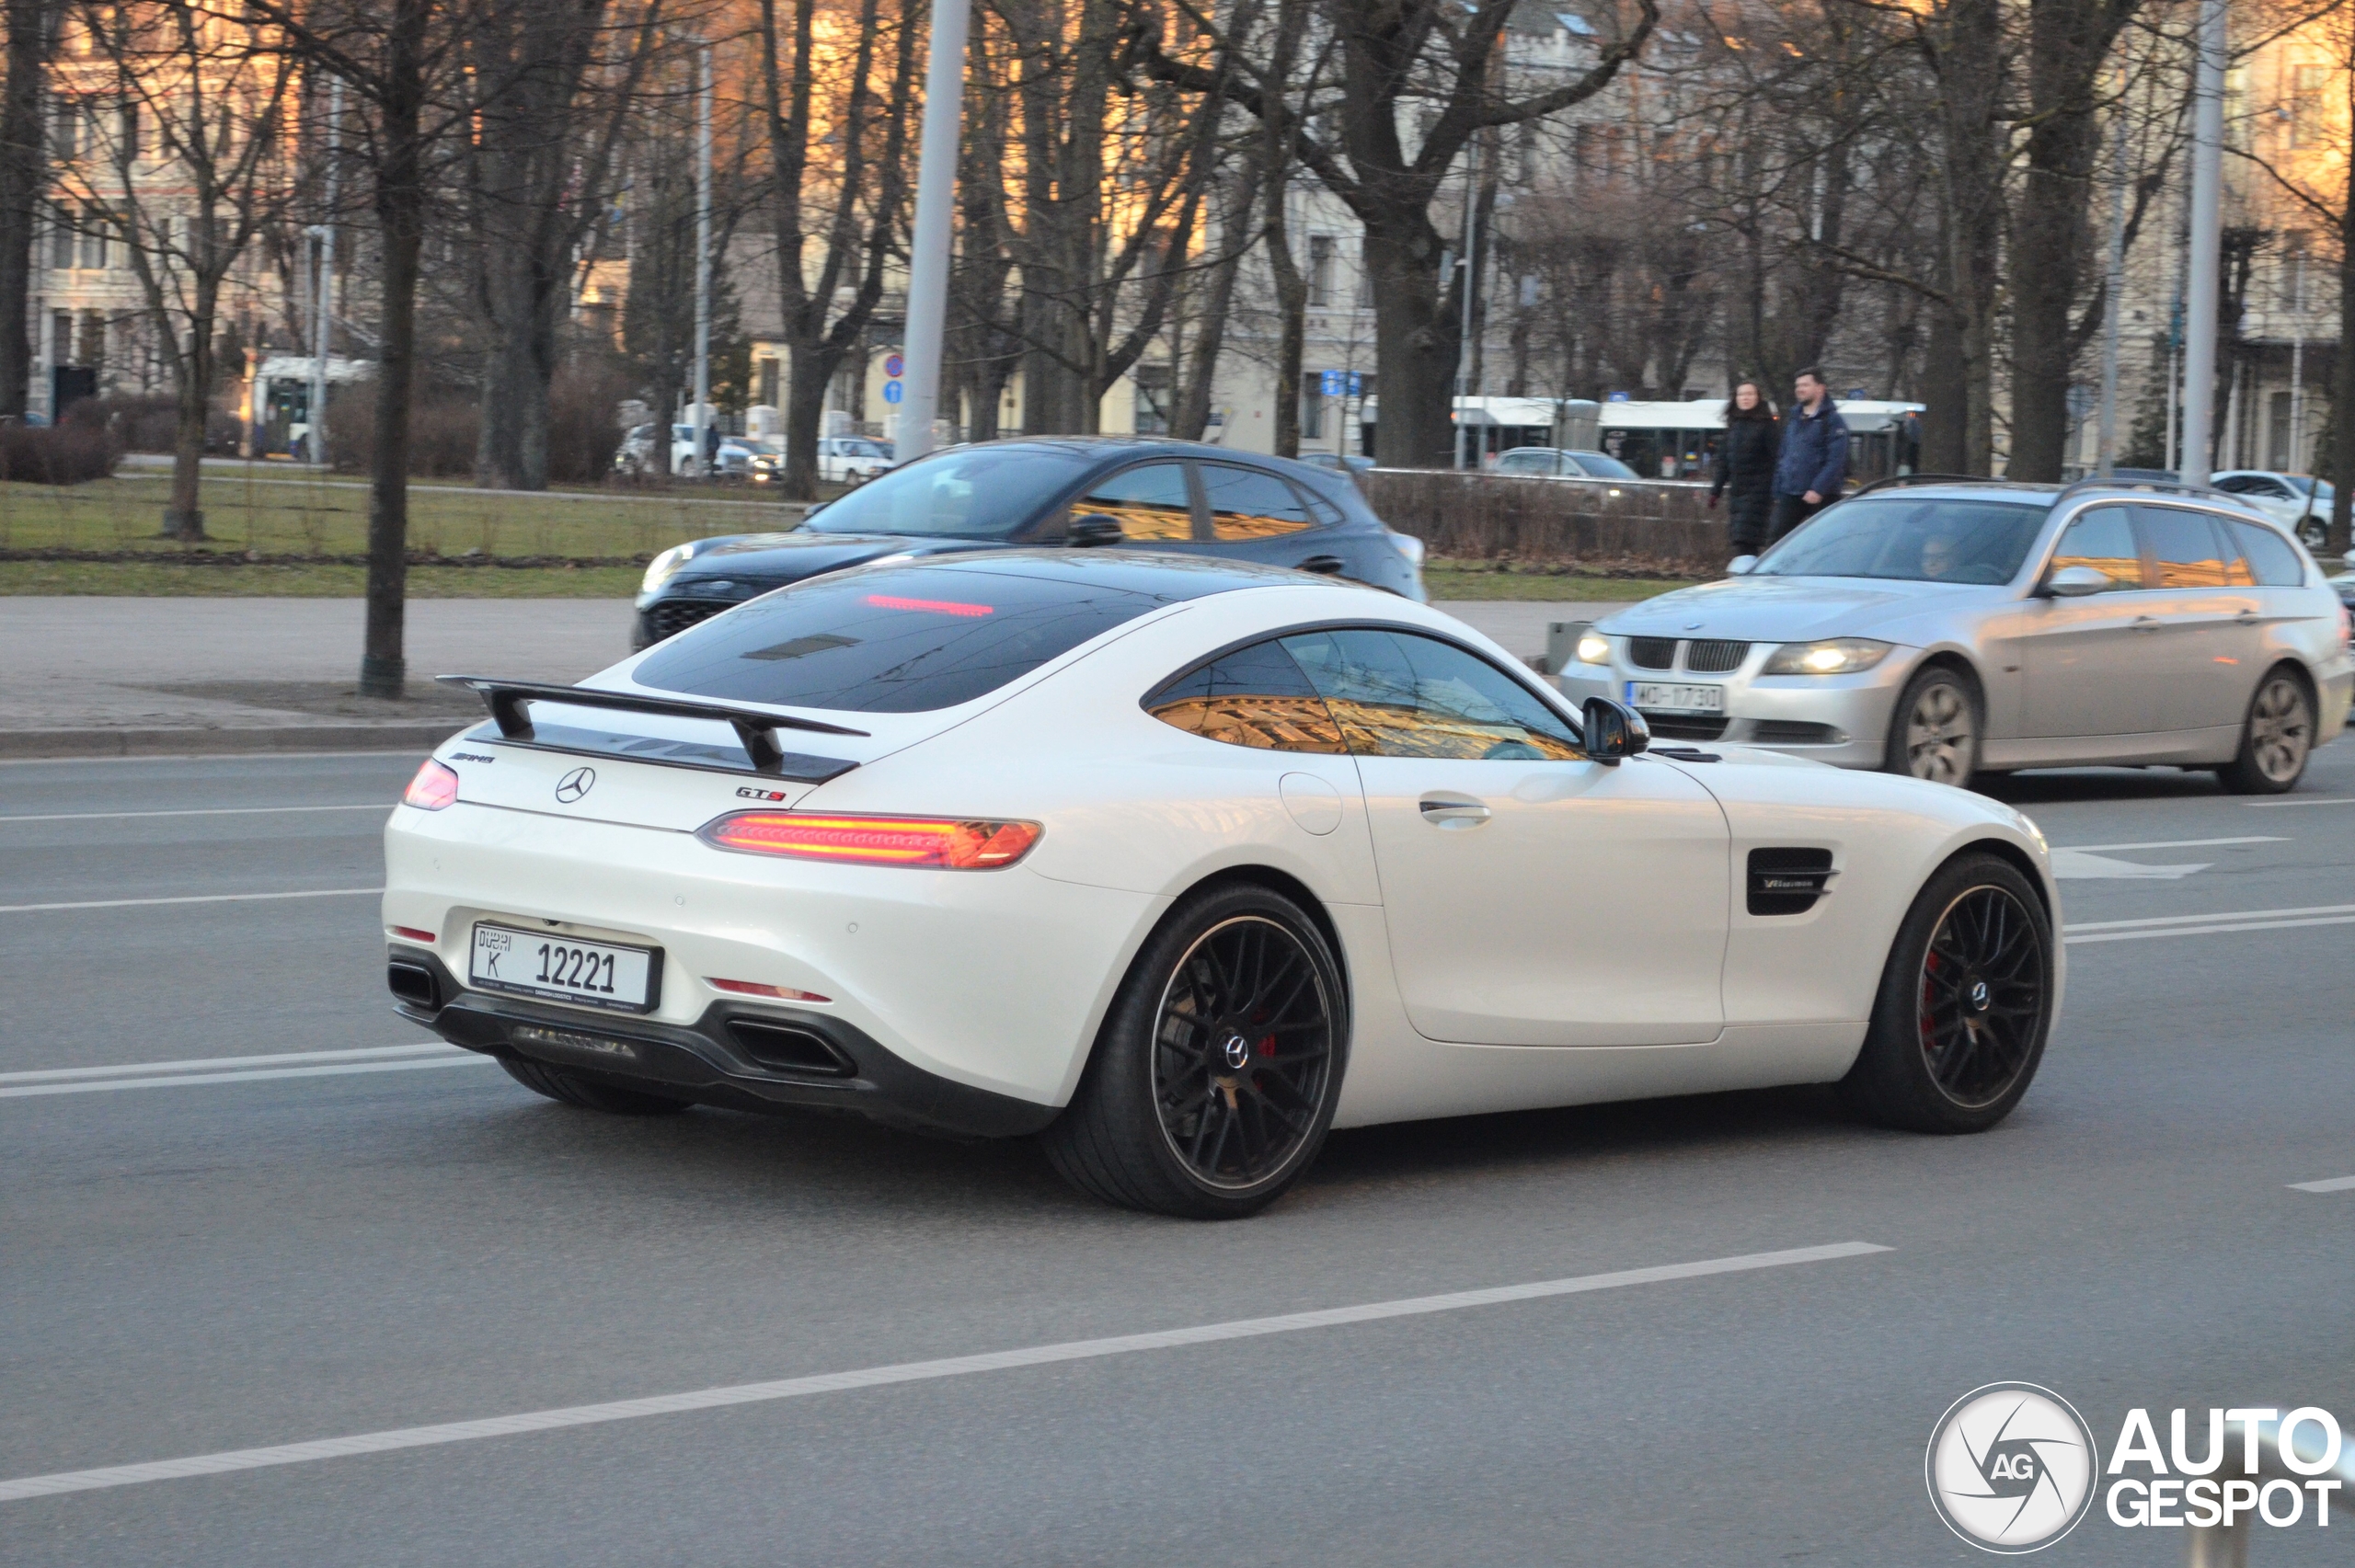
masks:
[[[678,633],[636,680],[796,709],[954,709],[1161,605],[1241,586],[1203,565],[1001,556],[836,572]]]

